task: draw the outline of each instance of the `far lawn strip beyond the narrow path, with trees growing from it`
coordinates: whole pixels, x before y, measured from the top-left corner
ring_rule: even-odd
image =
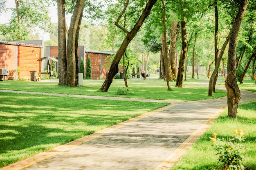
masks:
[[[158,79],[146,81],[141,79],[129,79],[129,87],[124,87],[124,80],[114,79],[108,92],[99,91],[104,82],[103,80],[83,80],[83,86],[78,87],[58,86],[57,82],[2,81],[0,82],[0,89],[175,101],[204,100],[220,98],[227,95],[227,92],[216,89],[216,93],[214,93],[213,96],[208,96],[208,86],[199,84],[205,81],[209,80],[187,79],[187,81],[183,81],[182,88],[175,87],[175,82],[171,82],[171,91],[167,90],[165,81]],[[129,89],[125,96],[117,95],[117,90],[120,87]]]

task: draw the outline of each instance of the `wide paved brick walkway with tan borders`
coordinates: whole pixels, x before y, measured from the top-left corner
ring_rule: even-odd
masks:
[[[240,103],[256,99],[241,94]],[[1,170],[169,170],[226,105],[227,98],[172,102]]]

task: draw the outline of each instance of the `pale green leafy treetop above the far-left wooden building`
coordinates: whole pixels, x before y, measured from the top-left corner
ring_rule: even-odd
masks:
[[[35,28],[47,33],[51,32],[52,26],[48,16],[49,0],[14,1],[16,7],[12,9],[11,20],[8,24],[0,26],[0,32],[7,41],[28,40]],[[0,7],[4,7],[6,2],[6,0],[1,1]]]

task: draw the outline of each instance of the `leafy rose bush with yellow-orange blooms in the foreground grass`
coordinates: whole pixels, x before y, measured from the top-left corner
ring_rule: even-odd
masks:
[[[216,133],[213,133],[210,139],[211,142],[214,143],[217,151],[216,155],[219,155],[218,161],[224,163],[225,170],[243,170],[245,167],[242,165],[243,155],[241,152],[243,152],[245,148],[243,148],[241,141],[244,141],[244,139],[242,139],[244,133],[243,130],[234,130],[233,132],[236,133],[237,136],[236,138],[229,138],[229,142],[226,142],[223,138],[217,138]],[[233,142],[236,139],[239,140],[239,143]]]

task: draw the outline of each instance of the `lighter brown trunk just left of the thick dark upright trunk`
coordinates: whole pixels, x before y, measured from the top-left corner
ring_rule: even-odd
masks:
[[[173,17],[173,15],[172,15]],[[170,63],[172,72],[176,78],[176,69],[175,69],[175,54],[176,54],[176,32],[177,32],[177,22],[171,21],[171,45],[170,45]]]

